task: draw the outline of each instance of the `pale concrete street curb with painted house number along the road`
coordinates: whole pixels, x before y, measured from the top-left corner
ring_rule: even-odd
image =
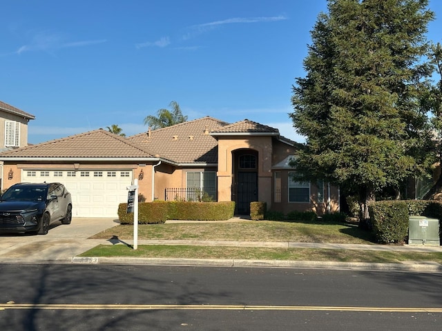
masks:
[[[73,257],[72,263],[79,264],[121,264],[121,265],[186,265],[249,268],[308,268],[362,271],[408,271],[442,272],[442,265],[436,262],[407,261],[404,263],[365,263],[332,261],[287,261],[247,259],[159,259],[136,257]]]

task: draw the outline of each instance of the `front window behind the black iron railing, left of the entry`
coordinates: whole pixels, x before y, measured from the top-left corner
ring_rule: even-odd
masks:
[[[209,199],[216,201],[216,172],[187,172],[188,201]]]

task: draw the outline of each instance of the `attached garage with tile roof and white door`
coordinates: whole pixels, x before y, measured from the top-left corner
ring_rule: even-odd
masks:
[[[128,139],[99,129],[1,153],[1,189],[19,182],[63,183],[72,194],[73,217],[117,219],[139,165],[152,161],[157,158]]]

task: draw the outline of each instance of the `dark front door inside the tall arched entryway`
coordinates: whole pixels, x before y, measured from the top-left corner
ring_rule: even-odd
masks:
[[[238,214],[250,214],[250,203],[258,199],[256,172],[238,172]]]

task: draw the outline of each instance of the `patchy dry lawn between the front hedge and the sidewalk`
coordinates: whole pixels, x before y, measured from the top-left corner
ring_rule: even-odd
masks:
[[[118,225],[92,239],[133,238],[133,225]],[[235,221],[231,223],[166,223],[138,226],[138,239],[291,241],[310,243],[373,243],[371,232],[354,224]]]

